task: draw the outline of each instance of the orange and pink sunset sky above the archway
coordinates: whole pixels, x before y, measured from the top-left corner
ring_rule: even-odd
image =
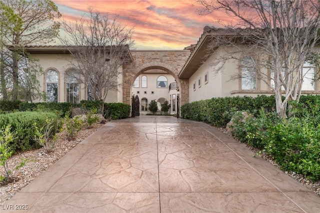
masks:
[[[181,50],[195,44],[203,27],[214,24],[212,15],[197,14],[195,0],[52,0],[62,19],[74,20],[88,6],[93,11],[118,14],[121,25],[133,27],[134,48],[138,50]]]

